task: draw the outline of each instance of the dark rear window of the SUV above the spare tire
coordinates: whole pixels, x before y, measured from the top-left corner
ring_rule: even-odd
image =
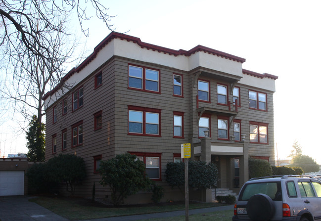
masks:
[[[251,196],[264,193],[271,197],[272,200],[282,200],[281,184],[280,182],[257,182],[248,183],[242,189],[239,200],[247,201]]]

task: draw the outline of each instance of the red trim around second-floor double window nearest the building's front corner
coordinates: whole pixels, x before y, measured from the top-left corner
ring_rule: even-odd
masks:
[[[134,111],[142,111],[143,112],[143,121],[142,121],[142,133],[130,133],[129,132],[129,111],[130,110],[134,110]],[[155,109],[155,108],[149,108],[149,107],[138,107],[138,106],[131,106],[128,105],[128,120],[127,120],[127,134],[128,135],[138,135],[138,136],[157,136],[157,137],[161,137],[161,109]],[[158,133],[159,134],[148,134],[146,133],[145,130],[145,126],[146,126],[146,112],[150,112],[150,113],[157,113],[158,114]]]

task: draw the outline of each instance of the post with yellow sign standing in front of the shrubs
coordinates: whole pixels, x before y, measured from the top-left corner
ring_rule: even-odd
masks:
[[[188,221],[188,158],[190,158],[190,143],[181,144],[181,158],[185,159],[185,221]]]

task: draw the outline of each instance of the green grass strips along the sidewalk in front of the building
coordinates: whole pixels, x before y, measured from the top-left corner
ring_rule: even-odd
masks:
[[[184,210],[184,203],[166,203],[159,205],[149,205],[149,206],[123,206],[123,207],[107,207],[104,205],[92,204],[90,200],[80,199],[80,198],[53,198],[53,197],[37,197],[32,198],[30,201],[35,202],[46,209],[58,214],[62,217],[65,217],[69,220],[87,220],[95,218],[105,218],[105,217],[117,217],[117,216],[127,216],[127,215],[137,215],[137,214],[147,214],[147,213],[159,213],[159,212],[168,212],[168,211],[177,211]],[[226,206],[227,204],[219,203],[190,203],[189,209],[198,209],[206,207],[215,207],[215,206]],[[213,217],[217,217],[216,214],[223,214],[226,212],[216,212],[205,214],[201,216],[204,218],[200,221],[206,221],[205,218],[213,220]],[[229,214],[229,213],[227,213]],[[232,212],[230,212],[232,216]],[[190,220],[194,219],[198,215],[191,215]],[[176,217],[177,218],[177,217]],[[199,220],[197,218],[196,220]],[[182,218],[185,220],[185,218]],[[222,219],[220,219],[222,220]],[[229,219],[231,220],[231,219]],[[157,221],[157,220],[155,220]],[[166,221],[171,221],[166,219]],[[178,221],[175,219],[175,221]],[[215,221],[215,220],[214,220]],[[222,220],[223,221],[223,220]]]

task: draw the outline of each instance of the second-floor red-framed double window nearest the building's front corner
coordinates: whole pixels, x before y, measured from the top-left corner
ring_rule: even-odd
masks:
[[[160,109],[128,107],[128,133],[160,136]]]

